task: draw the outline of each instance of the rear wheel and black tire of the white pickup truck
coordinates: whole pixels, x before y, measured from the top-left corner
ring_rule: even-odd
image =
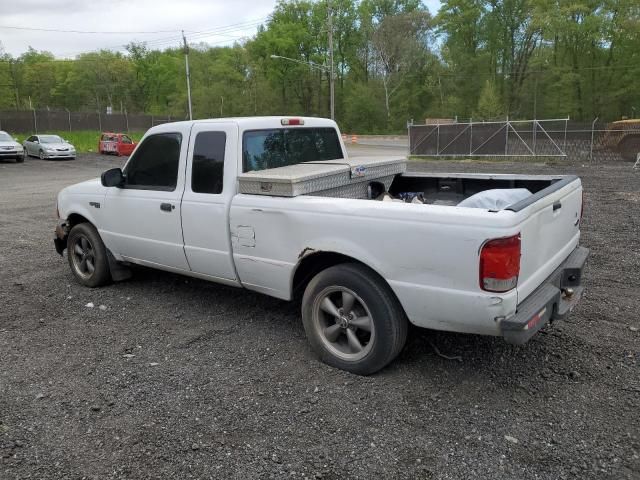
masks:
[[[358,375],[388,365],[407,338],[407,318],[389,286],[354,263],[330,267],[311,280],[302,322],[323,362]]]

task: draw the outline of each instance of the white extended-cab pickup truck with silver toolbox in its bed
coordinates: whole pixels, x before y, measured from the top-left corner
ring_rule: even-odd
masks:
[[[364,375],[398,355],[408,322],[524,343],[580,298],[578,177],[396,173],[385,183],[362,163],[326,119],[160,125],[122,170],[59,193],[56,250],[88,287],[138,264],[301,294],[319,357]],[[358,188],[276,193],[343,174]],[[241,193],[251,183],[258,190]],[[501,191],[526,193],[495,208],[470,202]]]

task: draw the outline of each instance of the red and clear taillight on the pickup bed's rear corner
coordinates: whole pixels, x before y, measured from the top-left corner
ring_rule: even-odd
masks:
[[[520,234],[485,242],[480,251],[480,288],[507,292],[518,285]]]

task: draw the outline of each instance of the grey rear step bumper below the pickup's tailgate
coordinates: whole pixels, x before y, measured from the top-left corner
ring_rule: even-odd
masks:
[[[549,278],[518,305],[513,317],[500,322],[507,343],[523,344],[549,321],[569,315],[584,290],[582,270],[588,256],[588,248],[576,247]]]

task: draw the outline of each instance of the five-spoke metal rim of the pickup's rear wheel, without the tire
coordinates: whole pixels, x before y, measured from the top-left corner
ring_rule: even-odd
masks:
[[[373,347],[375,328],[364,301],[345,287],[325,288],[313,304],[313,326],[337,357],[357,361]]]

